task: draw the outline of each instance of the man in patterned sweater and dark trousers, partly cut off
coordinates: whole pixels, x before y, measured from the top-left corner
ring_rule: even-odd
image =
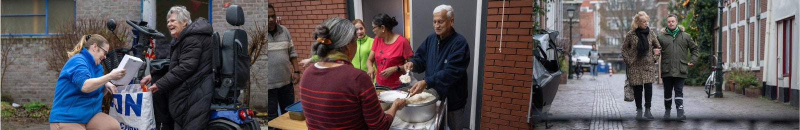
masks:
[[[298,53],[294,51],[289,30],[275,21],[274,6],[269,4],[268,7],[270,34],[266,35],[266,39],[269,40],[267,53],[270,55],[267,56],[266,65],[270,71],[267,71],[266,86],[270,90],[267,101],[267,113],[269,114],[267,119],[273,120],[278,117],[278,113],[284,113],[279,111],[294,104],[294,83],[298,83],[300,80],[300,70],[298,69],[300,67],[298,67]]]

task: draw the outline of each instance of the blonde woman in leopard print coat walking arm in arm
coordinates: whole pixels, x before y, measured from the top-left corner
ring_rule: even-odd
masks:
[[[650,17],[645,12],[638,12],[632,23],[632,30],[625,35],[622,43],[622,59],[628,67],[626,81],[634,87],[636,100],[636,119],[642,120],[642,91],[646,108],[645,117],[653,119],[650,114],[650,100],[653,97],[653,81],[655,80],[655,62],[660,54],[661,45],[653,30],[648,25]]]

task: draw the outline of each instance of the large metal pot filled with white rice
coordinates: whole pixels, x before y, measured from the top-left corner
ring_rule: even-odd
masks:
[[[408,91],[411,87],[402,87],[398,91]],[[395,116],[400,120],[408,123],[421,123],[426,122],[436,116],[436,102],[439,100],[439,95],[434,89],[423,90],[436,97],[436,100],[423,104],[406,104],[406,107],[398,111]],[[391,103],[389,103],[391,104]]]

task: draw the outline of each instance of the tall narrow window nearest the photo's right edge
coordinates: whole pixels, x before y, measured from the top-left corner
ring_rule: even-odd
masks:
[[[786,18],[778,22],[778,27],[781,30],[778,33],[782,33],[782,39],[780,39],[781,44],[783,45],[783,76],[789,77],[791,76],[792,71],[792,43],[794,42],[794,18]]]

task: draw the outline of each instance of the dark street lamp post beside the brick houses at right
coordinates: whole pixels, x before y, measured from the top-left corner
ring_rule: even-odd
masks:
[[[719,24],[719,30],[717,35],[717,84],[714,84],[717,87],[717,91],[714,91],[714,93],[716,93],[714,94],[714,97],[722,98],[722,8],[725,8],[725,6],[722,6],[722,3],[727,2],[727,0],[717,0],[717,2],[717,7],[719,8],[719,21],[717,21]]]

